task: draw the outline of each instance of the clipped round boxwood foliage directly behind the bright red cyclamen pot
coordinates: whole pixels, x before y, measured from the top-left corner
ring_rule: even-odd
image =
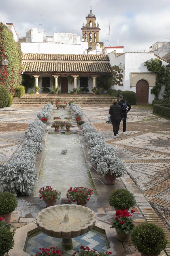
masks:
[[[136,204],[134,195],[127,189],[117,189],[109,196],[109,205],[115,209],[129,210]]]

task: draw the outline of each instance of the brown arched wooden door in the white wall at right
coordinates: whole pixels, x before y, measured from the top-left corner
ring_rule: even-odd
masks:
[[[149,84],[146,80],[141,79],[136,84],[137,103],[148,103]]]

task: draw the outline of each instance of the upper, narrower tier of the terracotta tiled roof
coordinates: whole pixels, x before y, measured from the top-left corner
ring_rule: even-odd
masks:
[[[24,53],[23,60],[48,60],[48,61],[109,61],[107,55],[102,54],[38,54]]]

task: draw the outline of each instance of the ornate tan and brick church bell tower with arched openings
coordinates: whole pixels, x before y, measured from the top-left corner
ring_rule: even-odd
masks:
[[[92,13],[92,8],[90,13],[86,16],[86,24],[83,23],[82,30],[82,39],[84,42],[88,42],[88,47],[91,47],[92,50],[96,49],[96,44],[99,43],[99,23],[96,25],[96,17]],[[104,48],[103,43],[99,43],[100,47]]]

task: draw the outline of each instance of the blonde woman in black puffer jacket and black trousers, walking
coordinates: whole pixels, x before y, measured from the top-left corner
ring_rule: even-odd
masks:
[[[120,122],[120,119],[123,120],[123,113],[121,106],[118,105],[118,101],[116,99],[113,99],[112,102],[113,105],[110,106],[109,114],[111,115],[111,122],[113,125],[113,132],[114,132],[114,139],[118,138],[118,124]]]

